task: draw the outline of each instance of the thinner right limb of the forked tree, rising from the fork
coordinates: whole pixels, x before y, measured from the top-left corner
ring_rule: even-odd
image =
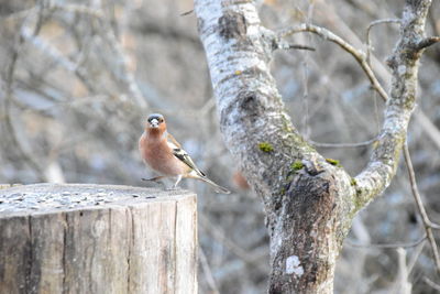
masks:
[[[407,2],[400,26],[400,40],[388,66],[393,70],[391,99],[378,143],[367,167],[356,176],[360,206],[381,194],[391,183],[405,142],[410,115],[416,102],[416,85],[421,50],[415,46],[425,39],[425,21],[430,1]]]

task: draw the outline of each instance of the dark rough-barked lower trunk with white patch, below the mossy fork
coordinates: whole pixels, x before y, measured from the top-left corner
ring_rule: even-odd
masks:
[[[302,168],[275,196],[270,293],[333,293],[336,261],[355,209],[345,200],[352,188],[344,182]]]

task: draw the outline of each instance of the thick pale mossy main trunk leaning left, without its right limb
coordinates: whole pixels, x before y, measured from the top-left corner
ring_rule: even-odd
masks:
[[[201,1],[196,12],[222,132],[265,204],[270,293],[332,293],[355,209],[351,178],[292,126],[267,65],[273,33],[260,26],[254,6]]]

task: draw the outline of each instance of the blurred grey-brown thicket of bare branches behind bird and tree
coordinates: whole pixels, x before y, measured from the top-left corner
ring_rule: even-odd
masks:
[[[310,22],[366,50],[372,21],[398,18],[404,1],[257,1],[263,25]],[[190,0],[0,0],[0,183],[146,186],[138,152],[148,113],[231,195],[183,181],[199,203],[200,293],[266,293],[268,238],[260,199],[240,176],[219,132],[205,52]],[[433,1],[427,33],[440,35]],[[371,30],[371,61],[385,89],[395,23]],[[358,63],[310,34],[290,40],[315,52],[277,52],[273,75],[294,124],[355,175],[364,167],[384,104]],[[418,110],[408,144],[422,199],[440,222],[440,46],[424,54]],[[369,143],[370,141],[370,143]],[[332,145],[360,143],[360,146]],[[329,143],[328,145],[322,143]],[[169,183],[167,183],[169,185]],[[157,185],[161,187],[161,185]],[[385,194],[353,222],[339,259],[336,293],[439,293],[429,246],[400,164]],[[440,231],[435,231],[440,242]],[[387,246],[377,246],[387,244]],[[404,247],[404,250],[397,250]],[[429,279],[429,280],[427,280]]]

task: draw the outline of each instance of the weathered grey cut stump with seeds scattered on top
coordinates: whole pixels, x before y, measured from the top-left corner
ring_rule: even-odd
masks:
[[[0,293],[197,293],[196,195],[89,184],[0,189]]]

